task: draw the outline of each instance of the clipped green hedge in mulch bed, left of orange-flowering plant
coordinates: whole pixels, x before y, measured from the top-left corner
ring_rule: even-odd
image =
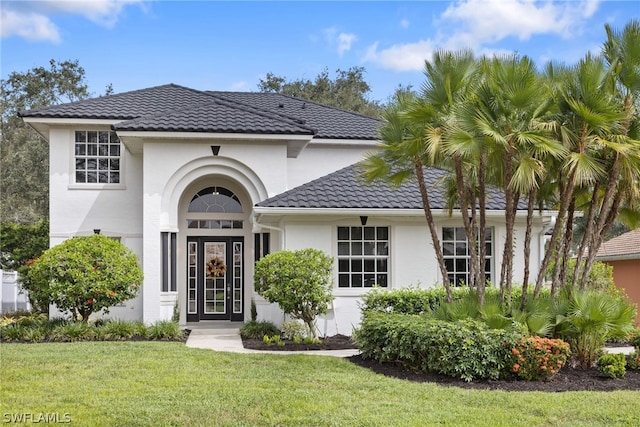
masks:
[[[490,329],[470,319],[446,322],[380,313],[365,315],[354,334],[364,358],[466,381],[511,375],[505,343],[519,342],[523,336],[517,329]]]

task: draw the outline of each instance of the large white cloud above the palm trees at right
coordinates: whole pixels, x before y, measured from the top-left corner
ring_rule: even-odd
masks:
[[[375,42],[363,61],[395,71],[419,71],[437,48],[504,53],[491,44],[508,37],[528,40],[551,34],[570,38],[584,30],[586,19],[596,12],[600,1],[460,0],[436,19],[432,37],[383,49]]]

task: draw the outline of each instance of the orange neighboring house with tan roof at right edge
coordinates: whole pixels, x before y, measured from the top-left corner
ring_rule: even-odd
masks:
[[[613,281],[640,307],[640,229],[604,242],[596,260],[613,267]],[[640,317],[637,318],[640,322]],[[638,323],[640,325],[640,323]]]

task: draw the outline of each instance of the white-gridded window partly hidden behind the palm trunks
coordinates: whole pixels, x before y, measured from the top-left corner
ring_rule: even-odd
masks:
[[[484,273],[486,280],[491,280],[491,262],[493,257],[493,229],[486,229],[486,257]],[[442,227],[442,252],[444,263],[449,274],[449,281],[454,286],[464,286],[469,280],[469,248],[467,233],[464,227]]]

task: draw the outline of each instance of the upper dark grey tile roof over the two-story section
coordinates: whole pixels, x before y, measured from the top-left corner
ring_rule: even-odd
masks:
[[[127,131],[315,135],[375,140],[380,121],[277,93],[205,92],[168,84],[20,113],[31,118],[123,120]]]

